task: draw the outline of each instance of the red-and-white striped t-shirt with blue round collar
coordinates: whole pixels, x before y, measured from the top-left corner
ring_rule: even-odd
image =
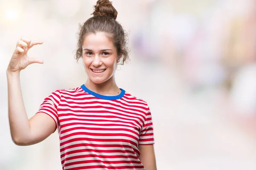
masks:
[[[39,112],[56,123],[63,170],[145,170],[138,147],[154,144],[154,131],[142,99],[123,89],[103,96],[81,85],[53,92]]]

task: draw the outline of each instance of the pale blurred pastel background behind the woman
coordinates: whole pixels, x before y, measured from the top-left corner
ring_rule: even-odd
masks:
[[[87,77],[74,59],[96,0],[0,0],[0,170],[61,170],[58,133],[13,144],[6,68],[21,36],[42,40],[21,73],[27,114]],[[113,0],[129,34],[120,88],[151,108],[158,170],[256,170],[256,1]]]

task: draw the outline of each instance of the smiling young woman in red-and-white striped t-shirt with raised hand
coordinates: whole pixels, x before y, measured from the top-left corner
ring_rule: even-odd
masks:
[[[117,64],[128,59],[117,11],[108,0],[98,0],[80,28],[76,59],[87,73],[84,85],[57,90],[44,99],[28,119],[20,88],[20,71],[41,59],[27,53],[40,41],[22,37],[6,71],[9,124],[17,145],[31,145],[58,129],[63,170],[156,170],[154,131],[147,103],[118,88]]]

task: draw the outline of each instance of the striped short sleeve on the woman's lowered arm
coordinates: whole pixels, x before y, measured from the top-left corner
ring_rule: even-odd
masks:
[[[139,144],[154,144],[154,128],[150,109],[148,108],[145,123],[140,132]]]

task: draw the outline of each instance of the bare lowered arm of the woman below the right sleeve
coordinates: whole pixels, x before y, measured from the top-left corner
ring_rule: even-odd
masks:
[[[153,144],[140,144],[139,159],[146,170],[157,170]]]

